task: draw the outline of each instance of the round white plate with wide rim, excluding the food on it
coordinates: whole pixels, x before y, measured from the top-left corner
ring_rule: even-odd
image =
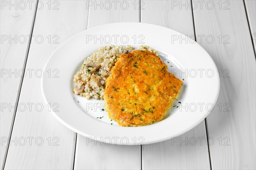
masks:
[[[153,125],[121,127],[101,110],[104,101],[73,94],[74,74],[84,59],[102,45],[149,45],[157,49],[168,71],[184,79],[180,97],[175,100],[179,107],[172,107],[164,120]],[[52,106],[52,114],[71,130],[86,136],[87,142],[108,144],[150,144],[185,133],[209,114],[220,87],[216,65],[198,43],[172,29],[146,23],[113,23],[83,31],[55,50],[44,73],[48,74],[42,77],[42,93],[45,102]]]

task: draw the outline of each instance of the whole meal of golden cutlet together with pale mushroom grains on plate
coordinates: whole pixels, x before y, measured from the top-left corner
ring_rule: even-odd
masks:
[[[161,121],[177,99],[180,79],[149,46],[103,46],[87,57],[73,79],[75,94],[104,99],[110,119],[121,126]]]

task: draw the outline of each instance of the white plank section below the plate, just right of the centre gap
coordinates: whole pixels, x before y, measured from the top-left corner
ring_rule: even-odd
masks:
[[[144,145],[142,168],[143,170],[209,170],[204,121],[181,136]]]

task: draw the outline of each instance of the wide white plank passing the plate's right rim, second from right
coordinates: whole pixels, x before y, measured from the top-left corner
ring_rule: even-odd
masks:
[[[207,117],[212,169],[256,169],[256,65],[243,1],[204,3],[194,21],[221,77],[217,109]]]

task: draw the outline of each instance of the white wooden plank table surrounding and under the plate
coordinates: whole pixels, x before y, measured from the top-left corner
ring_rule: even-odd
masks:
[[[1,0],[0,5],[0,169],[256,169],[256,0]],[[87,142],[52,116],[40,84],[49,56],[80,31],[115,22],[172,28],[208,51],[221,88],[203,122],[165,142],[115,146]]]

